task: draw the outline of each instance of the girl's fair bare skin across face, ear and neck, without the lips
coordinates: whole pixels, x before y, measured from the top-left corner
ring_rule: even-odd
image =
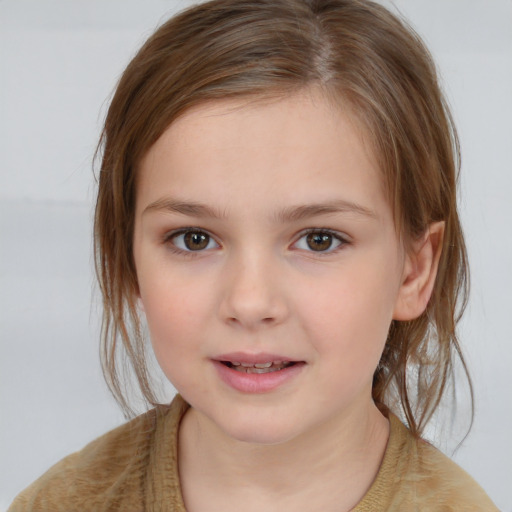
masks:
[[[191,227],[204,249],[186,246]],[[332,244],[313,250],[308,229]],[[428,302],[442,233],[432,225],[405,253],[364,134],[313,89],[199,106],[164,132],[139,169],[134,258],[157,360],[192,406],[180,426],[187,510],[358,503],[389,435],[372,376],[392,319]],[[244,393],[213,363],[235,351],[303,364]]]

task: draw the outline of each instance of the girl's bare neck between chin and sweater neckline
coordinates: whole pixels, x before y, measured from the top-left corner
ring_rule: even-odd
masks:
[[[388,437],[373,402],[271,446],[232,439],[190,409],[179,444],[187,511],[212,503],[225,512],[350,510],[375,479]]]

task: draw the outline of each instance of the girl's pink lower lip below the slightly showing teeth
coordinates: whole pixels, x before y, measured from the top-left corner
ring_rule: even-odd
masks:
[[[288,368],[268,373],[245,373],[229,368],[220,361],[213,361],[220,378],[242,393],[268,393],[296,377],[305,363],[295,363]]]

